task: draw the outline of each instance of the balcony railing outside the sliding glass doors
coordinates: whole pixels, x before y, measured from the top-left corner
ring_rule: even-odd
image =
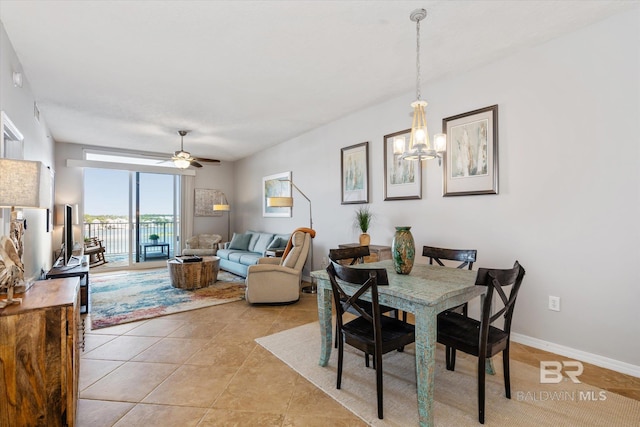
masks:
[[[121,221],[93,221],[85,222],[83,224],[83,236],[84,237],[97,237],[102,240],[102,246],[105,248],[107,255],[121,255],[129,252],[129,239],[134,239],[132,245],[134,256],[139,248],[139,245],[144,243],[150,243],[149,236],[157,234],[158,241],[169,244],[169,254],[175,254],[174,251],[174,236],[178,233],[173,227],[172,221],[157,221],[157,222],[142,222],[139,224],[140,241],[135,242],[136,239],[136,226],[138,224],[129,224]],[[176,224],[180,227],[180,224]],[[133,229],[131,229],[133,227]]]

